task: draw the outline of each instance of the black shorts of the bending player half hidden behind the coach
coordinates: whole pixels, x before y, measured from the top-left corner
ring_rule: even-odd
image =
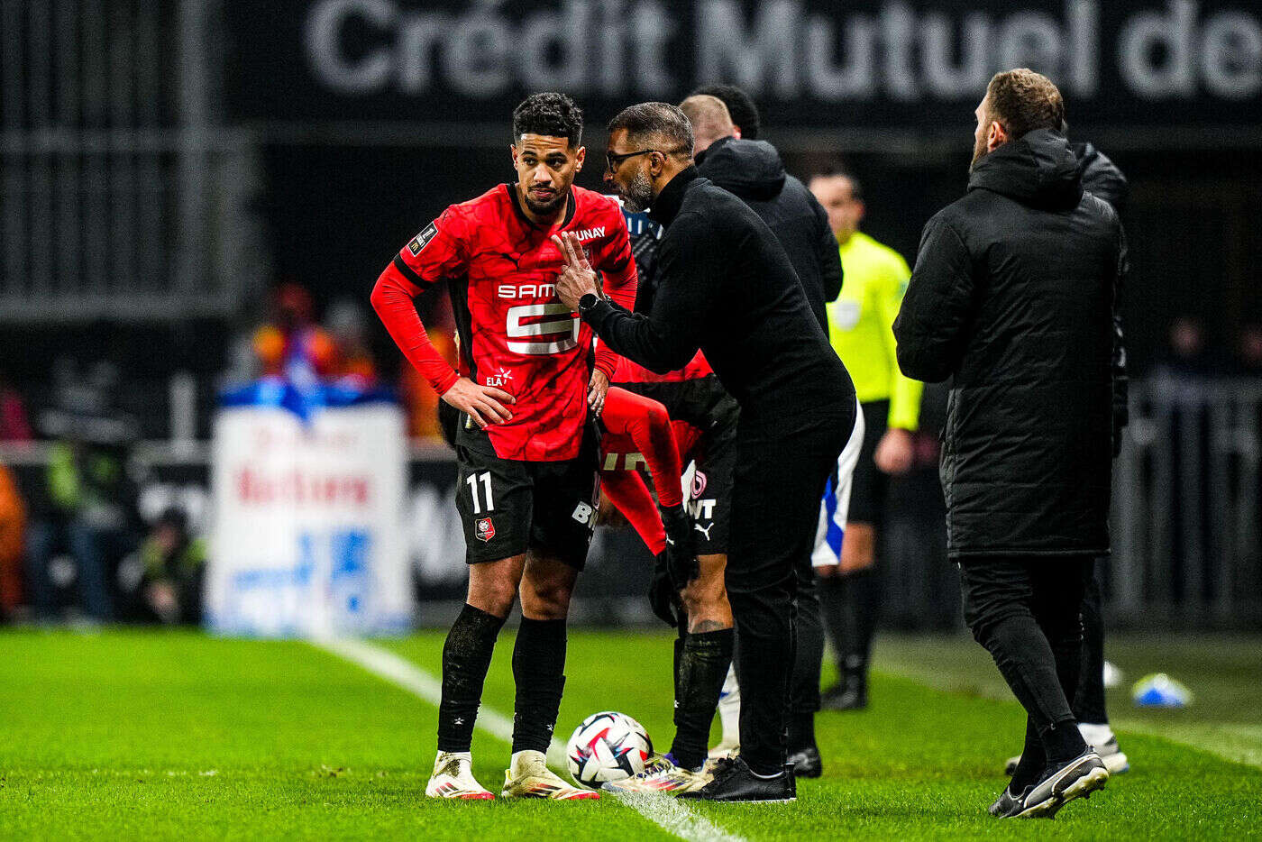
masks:
[[[695,461],[684,505],[692,515],[698,555],[727,554],[732,518],[732,473],[736,468],[736,423],[741,408],[718,377],[709,375],[676,382],[623,382],[627,391],[651,398],[666,408],[671,420],[702,430],[685,465]]]

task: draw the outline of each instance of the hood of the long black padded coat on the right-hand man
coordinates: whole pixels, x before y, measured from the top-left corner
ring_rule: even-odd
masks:
[[[1083,199],[1082,168],[1063,134],[1036,129],[977,162],[968,189],[988,189],[1031,207],[1066,210]]]

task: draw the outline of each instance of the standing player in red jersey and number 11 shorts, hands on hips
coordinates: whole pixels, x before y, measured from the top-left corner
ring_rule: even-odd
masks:
[[[438,757],[425,794],[492,798],[469,744],[496,637],[514,601],[516,704],[505,797],[596,798],[544,761],[565,683],[565,617],[599,500],[594,419],[617,356],[554,297],[554,234],[572,234],[630,305],[636,270],[616,202],[573,186],[586,150],[582,112],[535,93],[512,112],[514,184],[448,207],[381,273],[372,305],[408,360],[461,412],[456,504],[469,564],[467,602],[443,646]],[[447,280],[459,371],[425,336],[413,299]],[[594,370],[593,370],[594,367]],[[681,514],[681,513],[680,513]]]

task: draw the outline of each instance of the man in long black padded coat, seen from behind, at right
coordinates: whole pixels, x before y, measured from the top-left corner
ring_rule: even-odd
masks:
[[[910,377],[953,376],[941,454],[964,615],[1029,713],[997,814],[1054,813],[1108,779],[1068,699],[1079,605],[1108,553],[1117,213],[1085,193],[1060,92],[991,80],[968,193],[925,226],[893,324]],[[1068,793],[1068,795],[1066,795]]]

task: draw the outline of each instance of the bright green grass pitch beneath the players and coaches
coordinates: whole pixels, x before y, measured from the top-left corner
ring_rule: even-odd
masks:
[[[511,711],[511,643],[505,632],[487,680],[487,704],[501,712]],[[1249,649],[1204,648],[1199,660],[1224,693],[1252,699],[1248,691],[1257,687],[1257,673],[1213,668],[1215,658],[1247,663],[1257,640],[1247,643]],[[385,645],[437,670],[442,635]],[[969,660],[972,645],[923,643],[921,649],[936,653],[943,675],[955,670],[954,678],[934,683],[968,689],[960,670],[978,668]],[[914,658],[896,663],[893,655],[906,648],[915,651],[911,641],[887,648],[900,670],[915,674],[924,667]],[[1142,660],[1142,646],[1136,653]],[[1123,669],[1133,669],[1119,653],[1111,655]],[[573,634],[558,736],[568,736],[588,713],[616,708],[669,740],[669,663],[665,636]],[[984,660],[979,668],[993,670]],[[992,819],[984,808],[1003,784],[1000,764],[1021,731],[1020,711],[1011,702],[929,683],[881,674],[872,709],[822,716],[825,778],[804,781],[796,804],[698,809],[751,841],[825,834],[1214,838],[1262,832],[1262,770],[1150,736],[1160,722],[1148,722],[1146,733],[1122,732],[1136,770],[1090,802],[1069,805],[1054,822]],[[1213,730],[1257,722],[1256,716],[1223,718],[1214,709],[1206,702],[1204,718],[1190,708],[1170,725]],[[665,836],[613,799],[429,802],[422,790],[433,761],[434,727],[432,706],[303,643],[141,631],[3,631],[0,838],[429,842]],[[507,755],[509,746],[478,733],[476,773],[488,788],[497,789]]]

